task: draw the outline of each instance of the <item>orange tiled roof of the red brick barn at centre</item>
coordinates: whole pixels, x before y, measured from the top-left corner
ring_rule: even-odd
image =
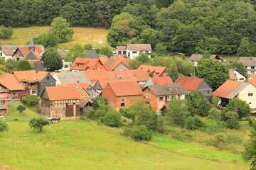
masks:
[[[116,96],[141,96],[143,94],[136,81],[110,81],[108,84]]]

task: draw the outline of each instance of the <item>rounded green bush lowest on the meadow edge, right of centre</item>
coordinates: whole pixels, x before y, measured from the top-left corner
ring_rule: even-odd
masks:
[[[152,133],[151,131],[147,130],[145,125],[139,125],[139,127],[132,132],[132,139],[134,139],[135,141],[139,141],[139,140],[149,141],[151,140],[151,138],[152,138]]]

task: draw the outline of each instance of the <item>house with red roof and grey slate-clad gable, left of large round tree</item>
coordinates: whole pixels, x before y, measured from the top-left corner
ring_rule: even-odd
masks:
[[[178,77],[178,79],[175,81],[175,84],[181,84],[181,86],[183,86],[187,91],[194,89],[202,91],[206,97],[213,96],[213,89],[205,79],[196,77]]]

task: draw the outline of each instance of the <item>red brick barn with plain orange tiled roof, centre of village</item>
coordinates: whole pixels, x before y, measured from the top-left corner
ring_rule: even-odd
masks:
[[[116,111],[129,108],[132,100],[138,97],[142,98],[142,89],[136,81],[109,81],[102,90],[102,98],[107,98]]]

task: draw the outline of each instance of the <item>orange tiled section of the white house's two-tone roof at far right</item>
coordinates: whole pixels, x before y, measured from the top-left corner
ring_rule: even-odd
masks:
[[[241,81],[227,80],[218,89],[213,92],[213,96],[226,98],[235,88],[237,88]]]

